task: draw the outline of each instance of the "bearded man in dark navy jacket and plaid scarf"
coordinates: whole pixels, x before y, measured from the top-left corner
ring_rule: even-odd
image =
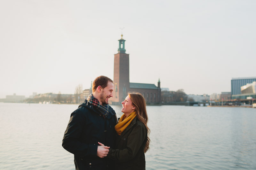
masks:
[[[110,78],[95,78],[92,94],[71,113],[62,146],[74,154],[76,170],[113,169],[112,160],[105,158],[108,148],[115,146],[117,117],[108,105],[113,90]],[[98,146],[98,142],[106,146]]]

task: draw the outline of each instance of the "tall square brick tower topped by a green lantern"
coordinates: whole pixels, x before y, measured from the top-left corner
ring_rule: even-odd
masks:
[[[125,53],[123,34],[119,41],[118,53],[114,55],[114,92],[113,102],[124,101],[130,91],[129,54]],[[121,104],[121,103],[120,103]]]

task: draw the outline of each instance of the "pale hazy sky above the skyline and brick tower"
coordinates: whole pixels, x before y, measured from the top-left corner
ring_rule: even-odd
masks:
[[[0,98],[113,79],[122,33],[130,82],[230,92],[232,78],[256,77],[255,9],[254,0],[2,0]]]

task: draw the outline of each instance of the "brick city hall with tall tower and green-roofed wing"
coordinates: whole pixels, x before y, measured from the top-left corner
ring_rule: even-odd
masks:
[[[127,96],[127,92],[140,92],[147,104],[161,103],[160,80],[157,86],[145,83],[130,83],[129,79],[129,54],[125,53],[123,34],[119,41],[118,53],[114,55],[114,92],[110,98],[110,104],[121,104]]]

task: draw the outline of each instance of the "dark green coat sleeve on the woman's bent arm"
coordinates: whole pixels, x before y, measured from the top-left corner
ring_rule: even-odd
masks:
[[[125,149],[109,149],[107,157],[118,160],[119,162],[126,162],[132,160],[138,153],[143,144],[147,130],[143,124],[136,125],[130,135],[127,137],[127,146]],[[144,150],[144,148],[143,148]]]

